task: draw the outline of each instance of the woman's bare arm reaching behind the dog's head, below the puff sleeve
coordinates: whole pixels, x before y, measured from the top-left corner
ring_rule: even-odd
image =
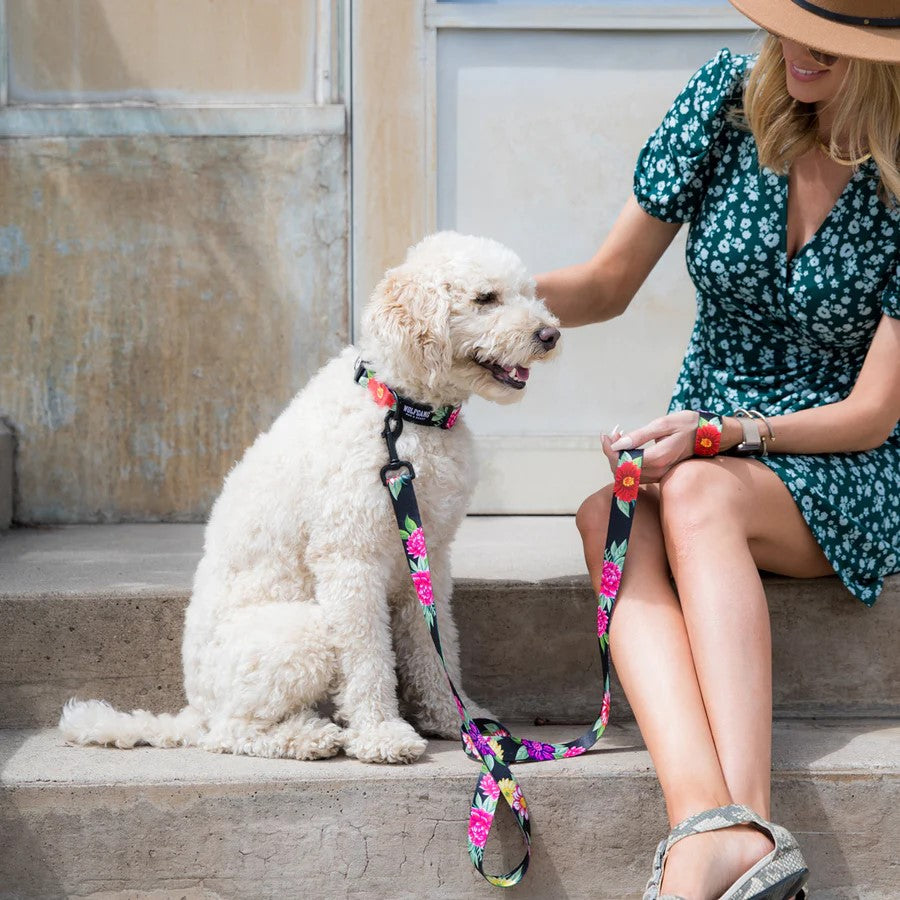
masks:
[[[680,227],[653,218],[630,197],[594,257],[538,275],[537,295],[567,328],[620,316]]]

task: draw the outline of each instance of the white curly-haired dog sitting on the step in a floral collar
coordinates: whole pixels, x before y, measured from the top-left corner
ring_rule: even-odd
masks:
[[[65,737],[297,759],[343,749],[367,762],[410,762],[426,742],[401,718],[400,701],[423,734],[457,736],[379,477],[385,410],[355,383],[355,360],[361,354],[378,380],[435,408],[473,393],[508,403],[522,396],[531,364],[552,353],[557,325],[519,258],[495,241],[442,232],[411,248],[375,289],[360,350],[325,365],[225,479],[185,618],[188,705],[157,716],[70,700]],[[470,432],[462,421],[449,430],[407,423],[397,449],[417,475],[458,686],[449,548],[474,482]],[[335,721],[316,709],[329,697]]]

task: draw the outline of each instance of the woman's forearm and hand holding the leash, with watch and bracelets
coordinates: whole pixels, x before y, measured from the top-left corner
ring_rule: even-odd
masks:
[[[729,412],[728,410],[712,410]],[[761,410],[765,413],[765,410]],[[837,403],[805,409],[784,416],[770,416],[775,441],[770,453],[856,453],[879,447],[900,420],[900,319],[882,316],[872,338],[859,377],[850,394]],[[755,422],[760,435],[765,425]],[[618,450],[630,450],[649,441],[644,452],[642,479],[658,481],[675,463],[693,455],[695,412],[671,413],[611,440],[603,438],[603,449],[615,468]],[[723,420],[721,451],[743,440],[740,422]]]

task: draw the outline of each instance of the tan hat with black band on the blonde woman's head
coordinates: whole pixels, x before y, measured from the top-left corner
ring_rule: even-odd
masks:
[[[900,63],[900,0],[730,0],[766,31],[835,56]]]

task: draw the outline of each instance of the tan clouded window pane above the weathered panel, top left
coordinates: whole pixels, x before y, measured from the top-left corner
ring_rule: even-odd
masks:
[[[7,0],[10,102],[312,103],[315,11],[315,0]]]

